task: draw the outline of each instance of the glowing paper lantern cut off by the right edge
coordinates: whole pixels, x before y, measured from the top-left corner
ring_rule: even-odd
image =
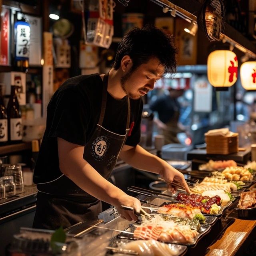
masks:
[[[246,90],[256,90],[256,61],[247,61],[240,68],[241,84]]]

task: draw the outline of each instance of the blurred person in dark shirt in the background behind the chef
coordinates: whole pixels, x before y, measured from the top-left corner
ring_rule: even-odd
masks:
[[[158,113],[154,122],[164,135],[164,144],[180,143],[177,134],[185,130],[179,122],[180,104],[178,98],[183,95],[183,89],[168,88],[168,92],[159,96],[150,104],[150,109]]]

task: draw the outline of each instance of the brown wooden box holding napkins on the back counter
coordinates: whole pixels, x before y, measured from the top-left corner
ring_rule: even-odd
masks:
[[[232,136],[205,135],[206,153],[227,155],[238,152],[238,133]]]

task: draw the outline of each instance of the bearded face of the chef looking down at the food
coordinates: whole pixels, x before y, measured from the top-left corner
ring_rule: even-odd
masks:
[[[134,71],[127,70],[121,77],[121,86],[131,99],[138,99],[153,90],[156,80],[162,78],[164,67],[157,58],[151,58]]]

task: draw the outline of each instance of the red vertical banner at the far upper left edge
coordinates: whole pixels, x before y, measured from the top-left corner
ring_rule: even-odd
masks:
[[[1,0],[0,0],[1,3]],[[0,5],[1,8],[1,5]],[[0,12],[0,65],[10,65],[10,10]]]

